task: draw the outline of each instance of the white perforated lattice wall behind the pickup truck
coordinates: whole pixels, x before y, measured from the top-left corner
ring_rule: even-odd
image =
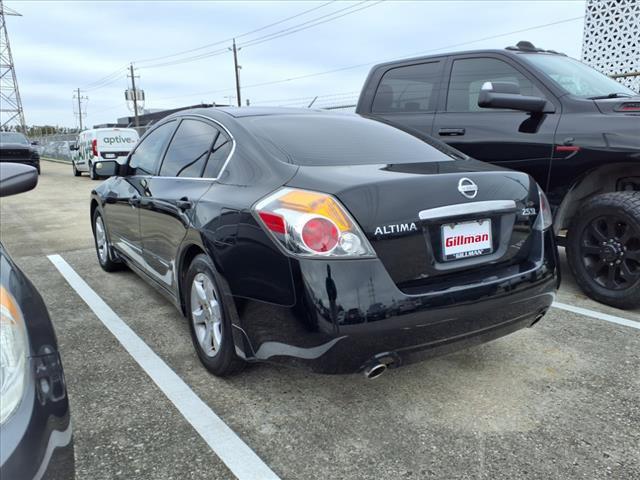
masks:
[[[640,72],[640,0],[587,0],[582,60],[607,75]],[[619,78],[640,92],[640,76]]]

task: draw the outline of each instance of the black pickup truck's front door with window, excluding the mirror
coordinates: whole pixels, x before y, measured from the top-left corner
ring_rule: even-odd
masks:
[[[451,57],[447,89],[438,106],[433,136],[467,155],[530,174],[547,188],[560,106],[544,86],[507,57],[490,54]],[[478,107],[485,82],[515,82],[523,95],[546,98],[555,113]]]

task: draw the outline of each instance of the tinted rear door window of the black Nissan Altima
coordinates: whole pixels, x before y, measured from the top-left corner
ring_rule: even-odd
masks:
[[[161,177],[200,177],[218,129],[201,120],[184,119],[171,139],[160,167]]]

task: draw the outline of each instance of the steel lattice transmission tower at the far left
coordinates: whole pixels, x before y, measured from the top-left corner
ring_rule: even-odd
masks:
[[[18,128],[26,132],[22,101],[18,91],[16,69],[13,65],[6,16],[22,16],[0,0],[0,130]]]

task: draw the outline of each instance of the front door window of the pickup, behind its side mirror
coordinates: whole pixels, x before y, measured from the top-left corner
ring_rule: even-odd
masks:
[[[448,112],[481,112],[495,109],[478,106],[480,89],[485,82],[511,82],[520,86],[522,95],[543,97],[531,81],[507,62],[496,58],[465,58],[455,60],[451,69]],[[498,109],[504,111],[504,109]]]

